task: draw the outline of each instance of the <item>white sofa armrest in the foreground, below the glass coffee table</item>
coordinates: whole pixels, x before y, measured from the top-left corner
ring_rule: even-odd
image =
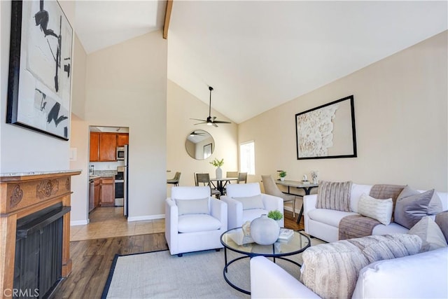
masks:
[[[264,256],[251,258],[251,298],[320,298]]]

